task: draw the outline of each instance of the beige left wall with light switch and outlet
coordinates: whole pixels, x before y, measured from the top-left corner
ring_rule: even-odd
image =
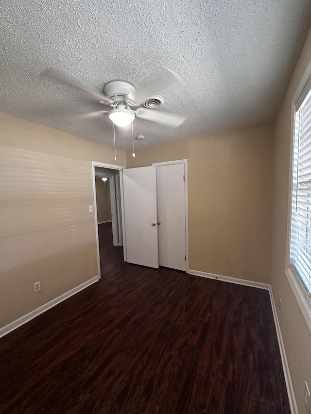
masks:
[[[114,149],[0,113],[0,327],[97,275],[91,161]]]

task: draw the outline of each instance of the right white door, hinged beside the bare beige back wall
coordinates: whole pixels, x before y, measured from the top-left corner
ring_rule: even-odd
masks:
[[[159,265],[186,270],[185,166],[156,166]]]

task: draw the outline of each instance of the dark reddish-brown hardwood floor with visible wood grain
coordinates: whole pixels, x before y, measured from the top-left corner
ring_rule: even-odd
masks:
[[[0,412],[290,413],[268,292],[123,263],[0,339]]]

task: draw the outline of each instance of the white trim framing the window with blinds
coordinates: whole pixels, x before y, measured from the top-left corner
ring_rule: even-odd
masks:
[[[293,174],[294,174],[294,138],[295,138],[295,114],[296,107],[300,105],[311,88],[311,62],[309,63],[292,100],[291,112],[291,147],[290,147],[290,174],[288,192],[288,215],[286,235],[286,260],[285,274],[297,300],[299,308],[304,316],[309,331],[311,332],[311,301],[307,298],[305,287],[300,276],[296,275],[290,265],[291,228],[292,228],[292,204],[293,204]]]

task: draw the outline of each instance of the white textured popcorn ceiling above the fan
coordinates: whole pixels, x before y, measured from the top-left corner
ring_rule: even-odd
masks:
[[[309,0],[1,0],[0,111],[113,145],[96,113],[106,107],[43,69],[103,91],[116,79],[139,88],[166,66],[184,85],[159,91],[160,110],[187,120],[136,119],[136,147],[273,120],[310,17]],[[116,139],[131,148],[130,129]]]

